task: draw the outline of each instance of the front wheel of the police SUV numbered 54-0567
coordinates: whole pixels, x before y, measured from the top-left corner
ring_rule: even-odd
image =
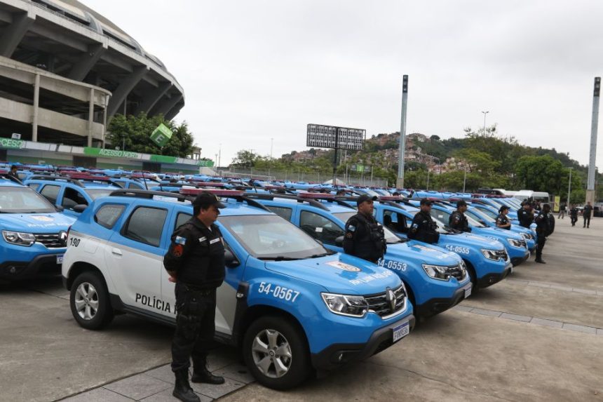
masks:
[[[272,389],[296,387],[311,373],[302,328],[282,316],[264,316],[251,323],[243,338],[243,359],[256,380]]]

